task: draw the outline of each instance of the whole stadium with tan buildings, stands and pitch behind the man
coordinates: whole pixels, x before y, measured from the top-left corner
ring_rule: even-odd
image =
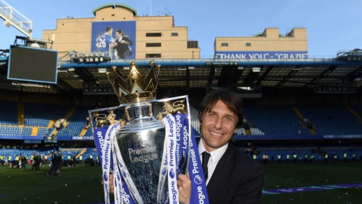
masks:
[[[141,76],[160,67],[157,99],[188,96],[196,137],[209,91],[227,88],[242,98],[243,127],[233,142],[264,165],[263,203],[362,202],[362,50],[310,58],[305,28],[286,35],[266,28],[215,36],[214,56],[202,58],[172,16],[138,16],[123,4],[100,6],[94,18],[57,19],[56,29],[34,39],[31,22],[19,24],[23,15],[0,6],[5,25],[25,35],[0,50],[1,203],[104,202],[97,121],[88,111],[120,105],[106,73],[116,68],[126,78],[133,65]],[[124,54],[103,49],[110,29],[129,38]],[[63,156],[61,177],[47,176],[55,151]]]

